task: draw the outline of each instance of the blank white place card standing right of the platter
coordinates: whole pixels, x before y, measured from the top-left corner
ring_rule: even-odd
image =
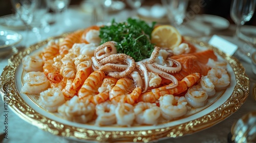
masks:
[[[236,44],[233,44],[217,35],[212,36],[208,43],[230,56],[232,56],[238,49]]]

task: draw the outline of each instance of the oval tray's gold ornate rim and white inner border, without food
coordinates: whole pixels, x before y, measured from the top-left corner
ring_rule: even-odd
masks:
[[[24,76],[21,64],[22,58],[42,50],[42,47],[54,38],[31,45],[26,50],[13,55],[0,78],[2,98],[8,100],[8,104],[13,111],[25,121],[54,135],[99,142],[148,142],[161,138],[180,137],[193,134],[223,121],[242,106],[249,94],[249,79],[245,74],[244,67],[236,58],[227,56],[207,43],[191,37],[185,37],[187,41],[190,41],[198,48],[214,50],[220,60],[228,62],[227,71],[230,76],[230,85],[227,89],[218,91],[214,98],[209,99],[205,107],[188,112],[185,116],[176,120],[165,121],[154,126],[98,127],[92,124],[67,121],[57,113],[48,112],[40,107],[37,103],[38,97],[19,92],[23,86],[22,79]]]

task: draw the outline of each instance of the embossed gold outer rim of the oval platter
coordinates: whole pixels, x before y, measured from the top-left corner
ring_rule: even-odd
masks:
[[[234,76],[236,78],[236,84],[230,97],[219,107],[213,111],[196,118],[195,120],[188,121],[175,126],[168,126],[162,128],[156,128],[152,130],[136,130],[136,131],[102,131],[92,130],[86,128],[74,127],[66,124],[62,124],[58,121],[52,120],[30,107],[24,99],[20,96],[15,83],[16,69],[21,63],[21,60],[26,55],[37,50],[41,45],[45,45],[49,40],[65,37],[63,34],[58,37],[52,37],[46,41],[31,45],[22,52],[13,55],[9,59],[9,64],[4,68],[4,71],[0,78],[0,90],[1,95],[5,100],[8,100],[9,106],[22,117],[25,121],[39,127],[42,130],[48,131],[54,135],[63,137],[81,139],[81,140],[94,140],[94,141],[153,141],[166,137],[179,137],[187,134],[192,134],[200,130],[209,128],[221,122],[224,118],[227,118],[232,113],[236,112],[249,94],[249,79],[245,74],[245,69],[242,64],[234,57],[227,56],[220,50],[216,49],[207,43],[200,42],[195,38],[185,37],[186,40],[191,43],[198,44],[200,46],[208,47],[228,61],[231,66]],[[210,120],[209,120],[210,119]],[[208,121],[208,122],[204,122]]]

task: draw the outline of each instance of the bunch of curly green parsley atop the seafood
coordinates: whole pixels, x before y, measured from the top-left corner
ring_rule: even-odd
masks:
[[[149,26],[145,21],[133,18],[125,22],[113,19],[110,26],[100,28],[101,44],[116,41],[118,53],[129,55],[135,61],[149,58],[155,47],[150,41],[155,24],[152,22],[152,26]]]

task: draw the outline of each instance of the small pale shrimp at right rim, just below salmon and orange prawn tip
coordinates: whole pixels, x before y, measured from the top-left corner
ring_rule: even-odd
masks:
[[[213,97],[216,93],[215,86],[208,78],[208,76],[202,76],[199,84],[204,91],[206,91],[208,97]]]

